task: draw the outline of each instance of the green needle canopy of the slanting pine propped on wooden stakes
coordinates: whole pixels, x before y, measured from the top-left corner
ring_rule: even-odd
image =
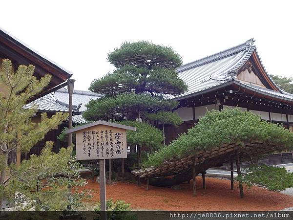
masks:
[[[160,166],[164,161],[210,150],[222,144],[236,143],[241,146],[260,141],[292,148],[293,133],[282,125],[261,120],[260,115],[239,108],[207,111],[199,123],[181,134],[168,146],[150,154],[145,167]]]

